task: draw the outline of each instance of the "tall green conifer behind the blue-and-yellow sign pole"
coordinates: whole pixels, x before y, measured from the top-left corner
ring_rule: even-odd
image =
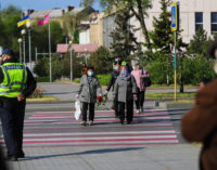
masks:
[[[163,71],[161,71],[163,77],[167,80],[168,77],[173,76],[171,68],[174,67],[174,55],[173,55],[173,50],[174,50],[174,32],[171,31],[171,21],[170,21],[170,12],[168,11],[168,6],[170,6],[171,0],[161,0],[161,14],[156,18],[154,17],[153,21],[153,27],[154,30],[150,31],[150,39],[151,39],[151,48],[153,49],[154,53],[148,53],[148,57],[154,61],[159,61],[164,64]],[[182,54],[182,48],[186,48],[187,44],[183,43],[182,38],[180,37],[180,32],[182,30],[177,31],[176,36],[176,49],[177,49],[177,54],[179,54],[179,57],[183,57],[184,55]],[[151,55],[150,55],[151,54]],[[180,65],[181,65],[180,60]],[[180,69],[182,67],[180,66]],[[179,75],[180,78],[180,92],[183,92],[183,82],[182,82],[182,75],[180,71]]]

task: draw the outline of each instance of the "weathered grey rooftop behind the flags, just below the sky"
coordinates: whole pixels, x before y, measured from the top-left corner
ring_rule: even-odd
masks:
[[[82,10],[84,8],[75,8],[71,12],[78,13]],[[44,15],[47,14],[49,14],[51,18],[61,17],[64,14],[63,11],[68,12],[68,9],[52,9],[52,10],[35,11],[34,13],[30,14],[30,18],[41,18],[41,17],[44,17]]]

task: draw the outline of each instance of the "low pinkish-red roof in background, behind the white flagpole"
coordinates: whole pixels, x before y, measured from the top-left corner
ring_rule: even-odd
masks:
[[[69,44],[66,44],[66,43],[59,43],[58,44],[58,49],[56,49],[56,52],[58,53],[62,53],[62,54],[65,54],[67,53],[67,51],[69,50]],[[87,44],[78,44],[78,43],[74,43],[72,44],[72,50],[75,52],[75,53],[93,53],[98,50],[98,44],[95,43],[87,43]]]

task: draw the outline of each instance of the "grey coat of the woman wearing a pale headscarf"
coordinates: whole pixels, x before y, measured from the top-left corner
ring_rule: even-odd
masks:
[[[128,80],[125,80],[119,76],[117,77],[113,95],[117,96],[118,102],[126,103],[127,101],[132,101],[133,94],[136,93],[137,93],[137,83],[132,76],[130,76]]]

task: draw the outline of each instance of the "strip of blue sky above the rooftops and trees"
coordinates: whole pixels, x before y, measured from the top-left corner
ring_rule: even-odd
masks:
[[[27,9],[34,10],[50,10],[53,8],[64,9],[67,5],[79,6],[80,0],[0,0],[2,9],[13,4],[20,6],[23,11]],[[99,1],[93,4],[95,10],[102,11]]]

